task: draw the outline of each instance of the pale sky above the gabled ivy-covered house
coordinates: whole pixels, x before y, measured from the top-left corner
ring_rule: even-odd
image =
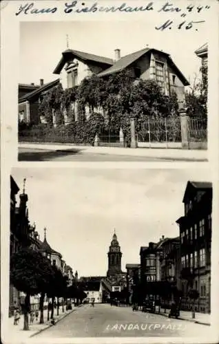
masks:
[[[67,49],[66,35],[70,49],[109,58],[114,58],[116,48],[121,50],[121,56],[147,45],[163,50],[171,54],[187,80],[192,81],[200,68],[200,58],[194,51],[207,42],[205,24],[199,25],[197,31],[163,32],[155,30],[154,24],[152,20],[22,22],[19,83],[38,85],[41,78],[48,83],[59,77],[52,73],[61,59],[61,53]]]

